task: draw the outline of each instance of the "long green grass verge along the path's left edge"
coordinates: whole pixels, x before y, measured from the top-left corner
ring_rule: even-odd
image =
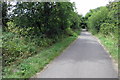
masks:
[[[51,60],[68,47],[77,37],[69,36],[53,44],[51,47],[42,50],[35,56],[23,60],[22,63],[6,67],[4,78],[30,78],[40,72]]]

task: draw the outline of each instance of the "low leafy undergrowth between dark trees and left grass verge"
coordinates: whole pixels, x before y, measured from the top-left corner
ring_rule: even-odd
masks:
[[[4,66],[9,66],[23,58],[35,55],[41,49],[52,45],[54,40],[37,36],[34,38],[23,37],[12,32],[3,32],[2,54]]]

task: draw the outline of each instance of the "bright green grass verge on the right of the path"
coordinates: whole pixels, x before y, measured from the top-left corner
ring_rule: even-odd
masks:
[[[117,40],[110,36],[104,37],[102,34],[97,34],[96,37],[100,39],[101,43],[106,47],[113,59],[118,62]]]

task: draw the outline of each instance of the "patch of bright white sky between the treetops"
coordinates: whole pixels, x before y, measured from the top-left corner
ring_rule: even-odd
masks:
[[[90,9],[95,9],[100,6],[106,6],[112,0],[70,0],[75,2],[78,14],[85,16]]]

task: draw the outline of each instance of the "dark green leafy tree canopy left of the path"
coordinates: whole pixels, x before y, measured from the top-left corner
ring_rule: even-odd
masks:
[[[12,14],[14,23],[32,29],[27,31],[31,33],[29,35],[55,38],[64,34],[68,27],[79,28],[78,14],[70,2],[18,2],[15,7]]]

